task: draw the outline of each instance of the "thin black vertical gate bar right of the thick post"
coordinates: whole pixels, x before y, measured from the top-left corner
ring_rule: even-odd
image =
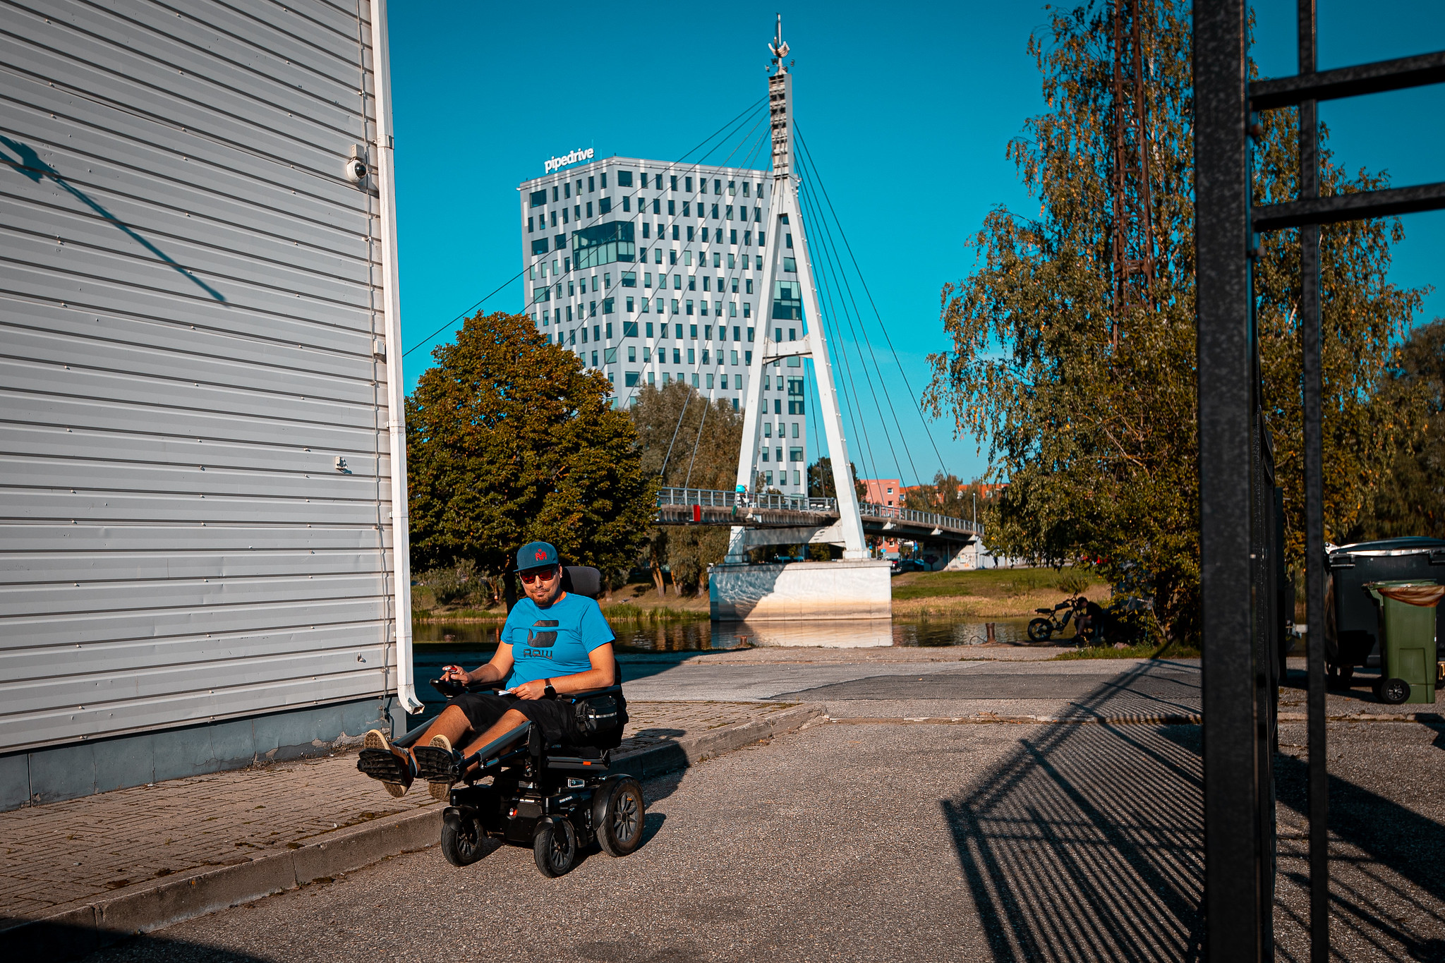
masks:
[[[1299,0],[1299,72],[1315,72],[1315,0]],[[1299,196],[1319,196],[1315,101],[1299,105]],[[1319,360],[1319,225],[1299,228],[1299,335],[1303,351],[1305,611],[1309,644],[1309,959],[1329,960],[1329,772],[1325,749],[1325,472]]]

